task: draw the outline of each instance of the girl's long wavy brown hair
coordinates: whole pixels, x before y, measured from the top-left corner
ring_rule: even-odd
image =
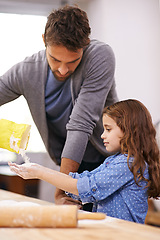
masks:
[[[117,102],[106,107],[103,114],[111,117],[123,131],[120,141],[121,152],[128,154],[128,167],[134,175],[136,184],[147,181],[148,196],[160,196],[160,153],[156,142],[156,130],[147,108],[134,99]],[[132,165],[129,158],[133,156]],[[148,165],[149,179],[144,170]]]

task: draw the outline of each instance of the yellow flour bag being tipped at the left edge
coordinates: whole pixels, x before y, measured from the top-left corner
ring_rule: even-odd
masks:
[[[20,153],[26,150],[30,137],[31,125],[18,124],[6,119],[0,119],[0,148]]]

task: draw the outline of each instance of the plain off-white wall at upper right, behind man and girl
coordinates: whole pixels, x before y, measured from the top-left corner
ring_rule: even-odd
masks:
[[[159,0],[92,0],[85,9],[92,38],[108,43],[116,56],[119,99],[136,98],[160,120]]]

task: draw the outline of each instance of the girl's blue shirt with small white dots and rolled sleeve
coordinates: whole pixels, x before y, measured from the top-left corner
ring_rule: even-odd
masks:
[[[137,186],[127,165],[127,155],[112,155],[91,172],[69,175],[78,179],[79,198],[82,203],[92,202],[94,212],[144,223],[148,210],[146,182],[141,181],[140,187]],[[147,168],[144,176],[149,178]]]

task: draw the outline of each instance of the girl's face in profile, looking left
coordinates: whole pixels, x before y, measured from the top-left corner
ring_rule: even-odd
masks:
[[[101,135],[106,150],[110,153],[120,151],[120,140],[123,137],[122,130],[117,126],[116,122],[107,114],[103,115],[104,132]]]

